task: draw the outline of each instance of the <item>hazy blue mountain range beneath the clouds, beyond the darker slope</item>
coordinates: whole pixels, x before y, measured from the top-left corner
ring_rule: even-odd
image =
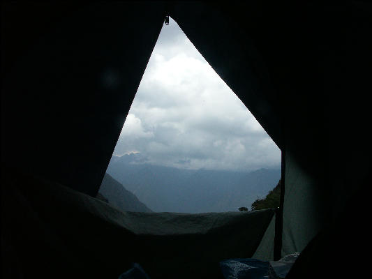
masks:
[[[280,169],[230,172],[178,169],[146,162],[140,153],[112,156],[107,174],[156,212],[201,213],[237,211],[241,206],[251,208],[255,199],[265,197],[281,178]]]

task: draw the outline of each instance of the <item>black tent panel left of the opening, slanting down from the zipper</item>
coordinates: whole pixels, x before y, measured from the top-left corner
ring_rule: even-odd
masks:
[[[1,13],[2,163],[96,195],[163,3],[7,1]]]

